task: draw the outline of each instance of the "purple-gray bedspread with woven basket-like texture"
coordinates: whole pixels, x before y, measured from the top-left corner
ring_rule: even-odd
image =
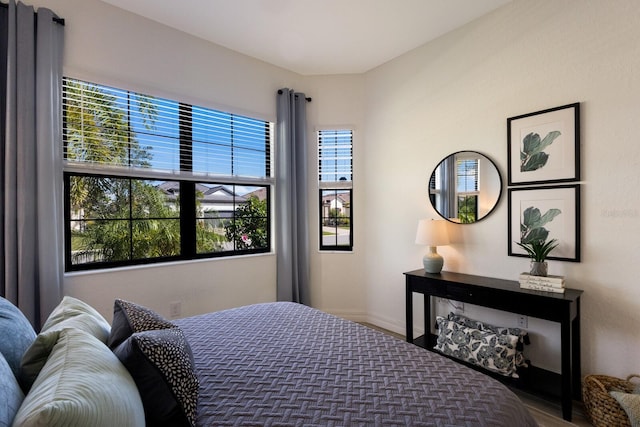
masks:
[[[445,357],[294,303],[175,321],[199,426],[535,426],[508,388]]]

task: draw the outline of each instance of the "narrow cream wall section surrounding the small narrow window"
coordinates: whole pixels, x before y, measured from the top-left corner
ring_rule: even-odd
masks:
[[[311,302],[313,306],[351,320],[368,320],[367,283],[362,260],[366,252],[364,235],[367,215],[364,200],[370,188],[364,175],[367,161],[361,75],[315,76],[304,83],[308,96],[309,126],[309,222],[311,224]],[[318,149],[315,132],[319,129],[353,130],[353,251],[320,252],[318,232]]]

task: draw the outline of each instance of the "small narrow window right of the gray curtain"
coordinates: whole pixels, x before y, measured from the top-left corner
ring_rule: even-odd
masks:
[[[320,250],[353,249],[353,132],[318,131]]]

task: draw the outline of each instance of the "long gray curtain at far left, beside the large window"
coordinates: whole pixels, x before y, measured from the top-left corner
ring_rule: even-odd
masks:
[[[62,297],[64,27],[15,0],[5,12],[1,289],[39,329]]]

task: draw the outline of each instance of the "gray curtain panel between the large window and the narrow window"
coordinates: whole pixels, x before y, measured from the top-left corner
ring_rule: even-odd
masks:
[[[290,89],[276,97],[277,298],[310,305],[307,100]]]

